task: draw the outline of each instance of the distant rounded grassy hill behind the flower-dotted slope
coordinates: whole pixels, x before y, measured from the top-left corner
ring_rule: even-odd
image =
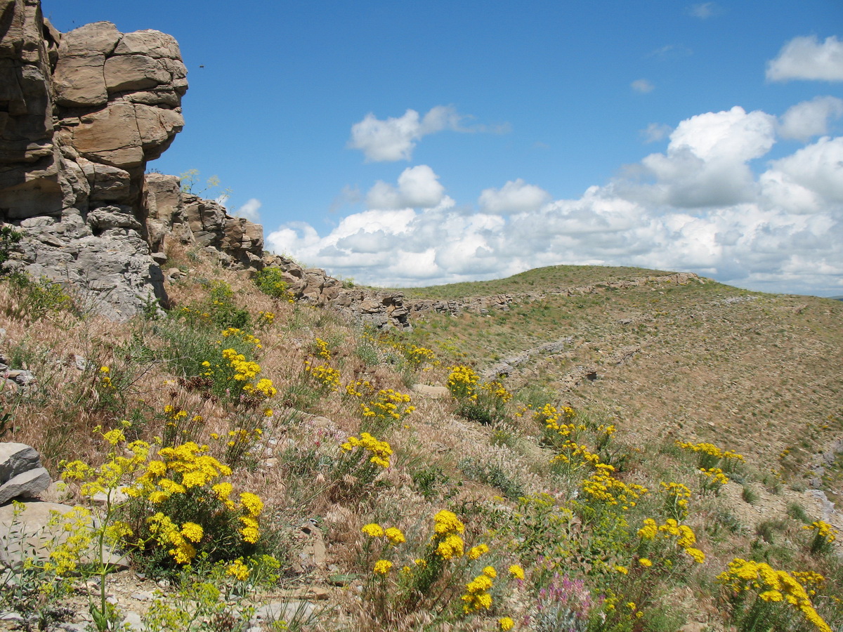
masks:
[[[481,370],[567,339],[562,351],[531,357],[507,384],[618,415],[640,440],[682,429],[706,441],[726,433],[751,458],[791,476],[804,474],[813,454],[840,437],[839,303],[706,279],[556,294],[558,287],[599,283],[601,271],[604,282],[667,274],[592,266],[577,277],[576,270],[543,268],[459,284],[467,295],[529,287],[541,297],[486,314],[431,314],[416,324],[415,339],[450,362],[470,358]],[[443,297],[447,287],[421,288],[416,295]],[[594,369],[598,379],[578,377],[581,367]]]

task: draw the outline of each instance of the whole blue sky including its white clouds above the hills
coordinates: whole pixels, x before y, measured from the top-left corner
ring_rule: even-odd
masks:
[[[42,8],[174,35],[186,125],[149,167],[217,175],[268,248],[336,276],[641,265],[843,294],[839,0]]]

